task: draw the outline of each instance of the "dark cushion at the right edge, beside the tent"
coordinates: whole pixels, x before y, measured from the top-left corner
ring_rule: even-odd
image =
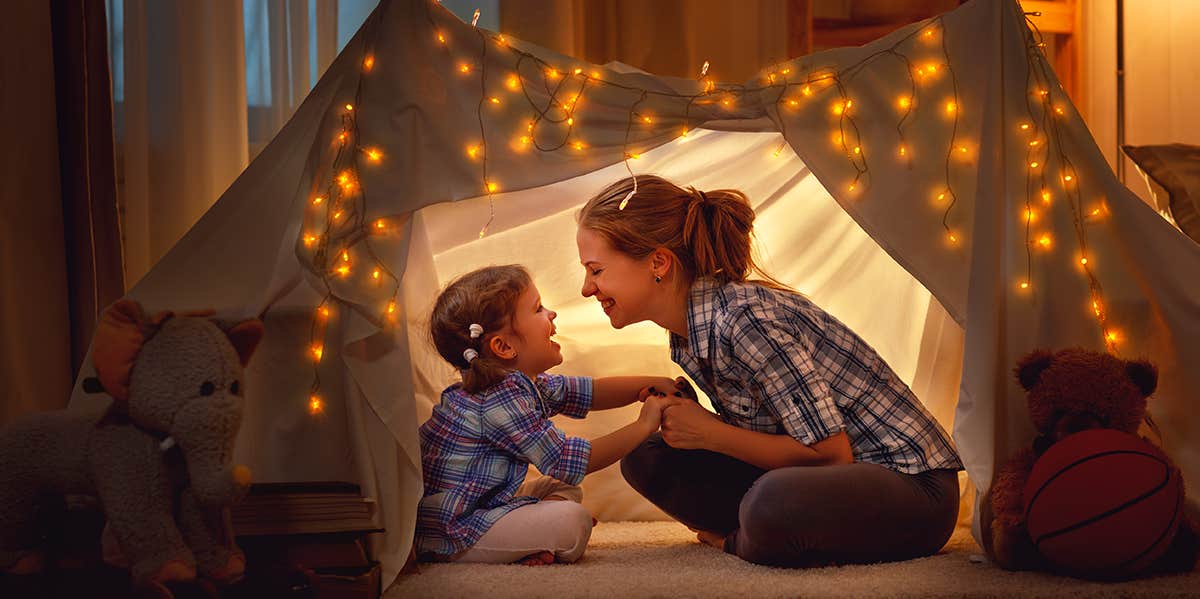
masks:
[[[1122,150],[1146,178],[1158,210],[1200,242],[1200,146],[1126,145]]]

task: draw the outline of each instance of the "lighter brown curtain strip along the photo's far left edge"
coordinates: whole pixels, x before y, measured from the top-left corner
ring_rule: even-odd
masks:
[[[58,407],[71,391],[50,11],[38,0],[0,19],[0,423]],[[17,92],[19,90],[19,92]]]

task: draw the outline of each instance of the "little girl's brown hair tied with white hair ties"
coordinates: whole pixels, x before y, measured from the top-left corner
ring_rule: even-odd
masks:
[[[511,370],[487,349],[487,341],[506,328],[516,313],[517,298],[533,278],[524,266],[485,266],[454,280],[438,295],[430,316],[430,336],[442,358],[462,372],[462,388],[480,393],[504,379]],[[470,325],[484,329],[470,339]],[[463,352],[479,355],[467,361]]]

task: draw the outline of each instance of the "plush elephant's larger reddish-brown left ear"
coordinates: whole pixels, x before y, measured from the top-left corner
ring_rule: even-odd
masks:
[[[101,387],[118,400],[130,396],[130,373],[145,343],[144,325],[142,305],[130,299],[109,306],[96,325],[91,361]]]

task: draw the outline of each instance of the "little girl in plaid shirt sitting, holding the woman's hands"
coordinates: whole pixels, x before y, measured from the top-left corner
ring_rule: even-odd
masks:
[[[433,343],[462,372],[421,425],[425,496],[416,551],[425,559],[539,565],[571,563],[592,535],[580,505],[583,475],[631,451],[659,429],[661,377],[546,375],[563,363],[556,313],[529,272],[487,266],[450,283],[433,306]],[[643,401],[637,420],[598,439],[568,437],[550,417]],[[673,400],[672,400],[673,401]],[[682,401],[682,400],[680,400]],[[545,474],[526,481],[528,465]]]

